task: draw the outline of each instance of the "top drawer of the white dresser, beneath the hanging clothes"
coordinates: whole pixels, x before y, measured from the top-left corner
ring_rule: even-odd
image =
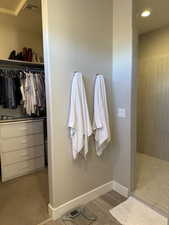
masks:
[[[12,138],[43,133],[43,121],[14,122],[0,125],[1,138]]]

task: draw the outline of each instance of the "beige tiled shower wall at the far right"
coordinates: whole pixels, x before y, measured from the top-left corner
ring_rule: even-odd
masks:
[[[139,42],[138,151],[169,160],[169,26]]]

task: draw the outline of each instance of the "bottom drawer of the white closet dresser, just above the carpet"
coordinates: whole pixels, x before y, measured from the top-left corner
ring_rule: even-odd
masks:
[[[28,174],[44,167],[44,157],[19,162],[2,168],[2,181]]]

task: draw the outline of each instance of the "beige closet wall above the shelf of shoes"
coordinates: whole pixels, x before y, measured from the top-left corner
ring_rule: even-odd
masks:
[[[12,50],[22,51],[23,47],[33,48],[40,56],[43,55],[40,29],[38,32],[23,29],[21,21],[15,16],[0,14],[0,59],[7,59]]]

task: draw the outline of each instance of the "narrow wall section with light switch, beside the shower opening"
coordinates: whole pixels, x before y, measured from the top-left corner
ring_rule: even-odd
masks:
[[[114,179],[129,188],[134,167],[134,89],[132,0],[114,0],[113,7],[113,97],[114,110],[126,109],[126,118],[115,117]],[[134,82],[134,83],[133,83]]]

